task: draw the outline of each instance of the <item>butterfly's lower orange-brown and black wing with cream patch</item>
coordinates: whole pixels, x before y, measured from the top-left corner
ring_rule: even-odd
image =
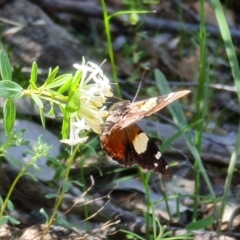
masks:
[[[124,129],[115,129],[100,137],[102,148],[121,165],[139,165],[161,173],[169,179],[172,174],[158,147],[136,124]]]

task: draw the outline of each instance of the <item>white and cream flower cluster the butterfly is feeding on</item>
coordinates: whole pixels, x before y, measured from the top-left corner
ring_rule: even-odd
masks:
[[[80,108],[76,115],[70,117],[69,139],[61,140],[71,146],[86,142],[88,137],[84,135],[85,130],[92,129],[95,133],[101,133],[103,117],[108,113],[103,104],[106,102],[106,97],[113,95],[109,79],[99,66],[91,62],[73,66],[82,74],[79,83]]]

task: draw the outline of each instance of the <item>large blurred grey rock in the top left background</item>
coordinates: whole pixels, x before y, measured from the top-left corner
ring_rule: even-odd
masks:
[[[10,46],[11,61],[17,66],[31,66],[36,61],[41,68],[69,69],[84,56],[81,44],[37,5],[9,1],[0,8],[0,16],[6,19],[1,22],[3,41]]]

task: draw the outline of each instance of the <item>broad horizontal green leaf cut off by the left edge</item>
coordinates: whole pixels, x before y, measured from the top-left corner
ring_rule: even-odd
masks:
[[[23,88],[15,82],[9,80],[0,81],[0,96],[16,100],[23,95]]]

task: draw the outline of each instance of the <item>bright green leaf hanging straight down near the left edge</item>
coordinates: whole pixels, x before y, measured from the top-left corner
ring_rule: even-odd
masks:
[[[5,134],[8,135],[14,126],[14,122],[16,119],[16,107],[11,99],[7,99],[3,106],[3,123]]]

